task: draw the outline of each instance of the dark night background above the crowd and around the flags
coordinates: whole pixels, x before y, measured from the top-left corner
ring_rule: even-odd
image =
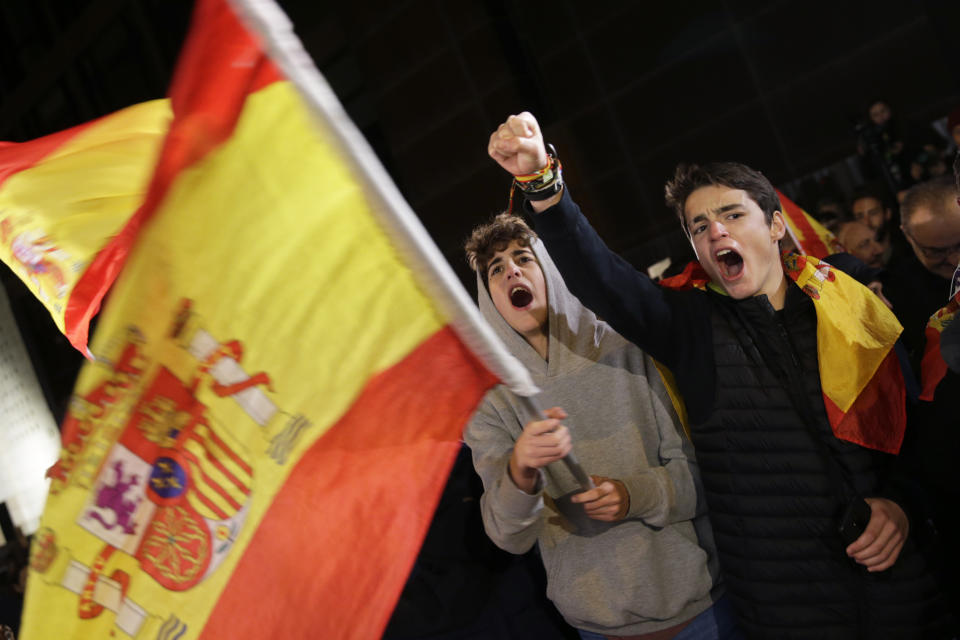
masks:
[[[162,97],[191,4],[4,0],[0,139]],[[538,116],[594,225],[646,266],[689,255],[663,204],[676,162],[740,160],[805,204],[805,181],[853,153],[870,101],[917,122],[960,104],[956,0],[281,4],[468,287],[461,243],[506,205],[485,150],[510,113]],[[3,281],[59,418],[80,360]]]

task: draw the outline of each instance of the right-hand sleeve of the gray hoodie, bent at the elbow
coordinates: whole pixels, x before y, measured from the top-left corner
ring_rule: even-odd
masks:
[[[650,467],[623,480],[630,493],[629,518],[639,518],[652,527],[665,527],[706,513],[693,445],[681,434],[682,426],[659,371],[647,358],[650,396],[657,407],[657,455],[659,466]]]

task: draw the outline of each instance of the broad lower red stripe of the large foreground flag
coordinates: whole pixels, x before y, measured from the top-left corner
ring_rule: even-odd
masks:
[[[371,378],[291,471],[201,636],[379,638],[495,383],[449,328]]]

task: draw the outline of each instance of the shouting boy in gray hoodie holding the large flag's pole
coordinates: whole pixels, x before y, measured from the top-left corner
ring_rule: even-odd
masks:
[[[583,638],[739,637],[714,605],[696,462],[653,360],[580,304],[520,218],[478,227],[466,252],[482,314],[552,407],[529,416],[501,385],[471,418],[487,534],[512,553],[539,543],[547,595]],[[571,431],[594,489],[554,464]]]

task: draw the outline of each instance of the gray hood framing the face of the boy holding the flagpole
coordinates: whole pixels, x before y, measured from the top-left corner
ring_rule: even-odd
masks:
[[[547,285],[547,360],[541,358],[523,336],[503,319],[479,273],[477,302],[481,314],[507,349],[523,362],[533,375],[534,382],[543,386],[551,378],[596,364],[605,354],[623,348],[627,342],[570,293],[539,239],[534,239],[531,249],[540,263]]]

